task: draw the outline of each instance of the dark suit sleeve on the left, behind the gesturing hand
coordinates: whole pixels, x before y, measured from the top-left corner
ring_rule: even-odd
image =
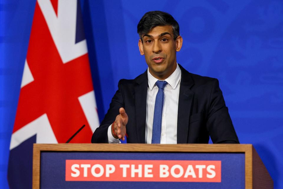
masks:
[[[116,116],[119,115],[119,109],[121,107],[124,107],[124,98],[121,92],[121,80],[118,83],[118,90],[116,91],[115,95],[113,96],[110,107],[104,116],[104,119],[102,120],[100,126],[96,128],[94,131],[91,142],[92,143],[108,143],[108,127],[111,125],[115,119]]]

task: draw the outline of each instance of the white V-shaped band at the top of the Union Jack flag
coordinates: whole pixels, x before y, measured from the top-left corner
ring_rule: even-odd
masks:
[[[77,0],[58,0],[58,17],[50,1],[37,0],[63,63],[88,52],[86,40],[75,43]],[[65,4],[64,4],[65,3]]]

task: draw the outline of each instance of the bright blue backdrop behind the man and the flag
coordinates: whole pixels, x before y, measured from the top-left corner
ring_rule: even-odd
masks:
[[[6,181],[13,129],[35,0],[0,0],[0,186]],[[283,1],[81,1],[100,120],[121,78],[147,65],[136,25],[151,10],[180,24],[177,62],[191,73],[219,79],[241,143],[255,146],[283,188]],[[280,179],[281,178],[281,179]]]

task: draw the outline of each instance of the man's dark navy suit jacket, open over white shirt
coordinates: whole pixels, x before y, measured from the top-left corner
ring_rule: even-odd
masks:
[[[218,80],[189,73],[181,65],[177,143],[239,143]],[[93,133],[92,143],[107,143],[107,131],[124,107],[129,120],[127,143],[144,143],[147,71],[135,79],[121,79],[110,108]]]

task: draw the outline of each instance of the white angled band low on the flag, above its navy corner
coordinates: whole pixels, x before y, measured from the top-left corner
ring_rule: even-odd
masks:
[[[36,134],[36,143],[57,144],[47,114],[43,114],[12,134],[10,150]]]

